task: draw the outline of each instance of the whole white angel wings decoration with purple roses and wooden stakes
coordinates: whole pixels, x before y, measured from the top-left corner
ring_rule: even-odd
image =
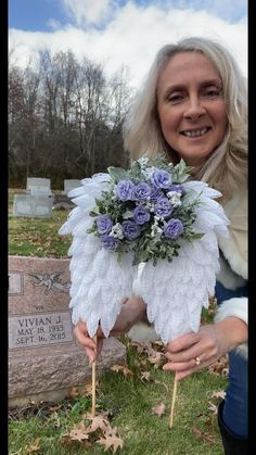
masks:
[[[191,180],[181,160],[163,156],[135,161],[129,169],[108,167],[81,180],[68,193],[77,205],[60,233],[72,233],[69,289],[74,325],[87,323],[97,340],[99,324],[107,338],[121,302],[133,295],[164,343],[200,327],[219,270],[218,236],[229,224],[221,193]],[[95,412],[95,363],[92,365]],[[177,390],[170,413],[172,426]]]

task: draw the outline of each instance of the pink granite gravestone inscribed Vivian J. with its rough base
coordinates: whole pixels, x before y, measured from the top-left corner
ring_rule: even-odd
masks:
[[[91,377],[73,334],[69,286],[69,260],[9,256],[10,407],[63,399]],[[125,359],[119,341],[104,340],[97,371]]]

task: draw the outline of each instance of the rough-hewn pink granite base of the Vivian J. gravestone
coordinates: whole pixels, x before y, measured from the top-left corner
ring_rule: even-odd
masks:
[[[97,376],[112,365],[126,362],[126,347],[118,340],[104,340],[97,361]],[[85,347],[74,346],[66,353],[48,354],[9,362],[9,407],[23,407],[29,402],[57,402],[67,396],[73,387],[82,389],[91,378],[91,365]]]

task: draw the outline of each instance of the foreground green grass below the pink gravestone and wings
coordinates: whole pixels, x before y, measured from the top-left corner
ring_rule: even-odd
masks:
[[[209,404],[217,404],[219,399],[212,395],[214,391],[223,390],[226,378],[203,370],[181,381],[175,425],[170,430],[168,419],[174,376],[146,364],[144,356],[131,346],[128,346],[128,367],[133,375],[125,377],[120,372],[104,372],[97,397],[97,405],[110,413],[112,427],[118,428],[118,435],[124,440],[124,448],[118,452],[124,455],[221,455],[217,419]],[[151,372],[149,382],[140,379],[142,365]],[[166,405],[162,417],[151,412],[158,403]],[[80,395],[63,401],[56,410],[50,412],[46,405],[39,405],[31,407],[27,416],[17,417],[14,413],[9,427],[10,455],[29,453],[26,451],[37,439],[39,454],[103,454],[103,448],[97,443],[88,450],[78,442],[63,442],[62,437],[82,420],[90,404],[90,399]]]

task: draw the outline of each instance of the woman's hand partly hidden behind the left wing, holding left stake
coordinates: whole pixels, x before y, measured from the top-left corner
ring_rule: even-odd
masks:
[[[130,298],[127,299],[123,305],[119,315],[117,316],[115,326],[113,327],[110,337],[119,337],[127,333],[131,327],[145,318],[145,304],[142,299]],[[89,337],[87,324],[81,320],[78,321],[74,329],[75,337],[82,346],[86,347],[86,353],[89,361],[95,361],[100,354],[103,344],[104,333],[99,326],[97,330],[97,343]]]

